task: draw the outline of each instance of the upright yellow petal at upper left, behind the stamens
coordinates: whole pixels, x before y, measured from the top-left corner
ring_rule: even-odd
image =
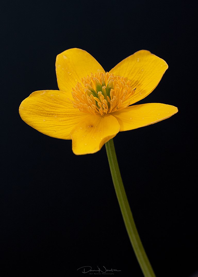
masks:
[[[81,78],[90,76],[91,72],[103,72],[102,66],[85,50],[72,48],[56,57],[56,76],[60,90],[72,91]]]

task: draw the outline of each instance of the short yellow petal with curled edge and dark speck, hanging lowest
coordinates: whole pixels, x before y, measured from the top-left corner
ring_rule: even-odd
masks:
[[[77,124],[72,132],[72,150],[76,155],[91,154],[119,132],[120,125],[110,114],[91,115]]]

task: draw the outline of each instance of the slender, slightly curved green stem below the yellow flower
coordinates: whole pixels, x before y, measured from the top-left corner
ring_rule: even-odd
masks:
[[[151,264],[148,260],[146,252],[138,235],[138,231],[136,229],[136,225],[133,219],[133,215],[131,213],[128,199],[126,197],[125,188],[122,182],[120,169],[115,153],[113,139],[106,142],[105,147],[111,170],[111,177],[116,191],[116,196],[118,198],[121,213],[125,222],[125,227],[130,238],[133,250],[135,252],[136,258],[139,262],[144,277],[155,277],[154,271],[151,267]]]

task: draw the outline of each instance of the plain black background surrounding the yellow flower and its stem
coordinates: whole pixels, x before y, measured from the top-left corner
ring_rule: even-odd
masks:
[[[195,1],[194,1],[195,3]],[[114,139],[126,193],[156,276],[198,270],[192,1],[7,1],[2,5],[2,276],[142,277],[111,181],[105,147],[75,156],[71,140],[25,124],[18,107],[58,89],[55,58],[78,47],[105,70],[147,49],[169,65],[141,103],[177,106],[171,118]],[[140,102],[139,102],[140,103]]]

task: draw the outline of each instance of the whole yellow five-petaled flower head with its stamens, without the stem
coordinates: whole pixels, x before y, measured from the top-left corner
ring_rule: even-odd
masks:
[[[178,111],[160,103],[129,106],[151,93],[167,68],[163,59],[140,50],[105,73],[86,51],[68,49],[56,58],[60,91],[33,92],[19,113],[45,135],[72,139],[76,155],[95,153],[119,131],[159,122]]]

